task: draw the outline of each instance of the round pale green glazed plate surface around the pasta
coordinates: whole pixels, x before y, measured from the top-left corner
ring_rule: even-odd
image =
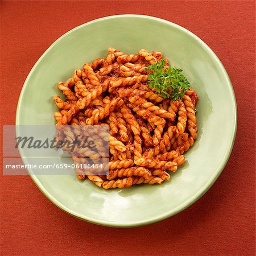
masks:
[[[85,62],[106,56],[110,46],[127,53],[141,48],[160,50],[171,65],[184,70],[200,97],[196,106],[199,133],[185,153],[187,162],[162,185],[113,190],[99,188],[89,180],[78,181],[75,176],[28,172],[40,191],[72,216],[106,226],[146,225],[187,208],[220,175],[236,135],[236,98],[221,61],[192,32],[151,16],[116,15],[82,24],[47,49],[24,82],[16,125],[54,125],[57,108],[52,96],[61,94],[57,82],[71,77]]]

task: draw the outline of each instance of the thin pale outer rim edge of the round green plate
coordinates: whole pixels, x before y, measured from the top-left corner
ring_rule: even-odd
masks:
[[[158,222],[161,220],[164,220],[168,217],[174,216],[175,214],[181,212],[182,210],[188,208],[190,205],[192,205],[193,203],[195,203],[197,200],[200,199],[200,197],[202,197],[208,190],[210,187],[212,187],[212,185],[214,184],[214,182],[217,180],[218,176],[220,176],[221,172],[224,170],[226,163],[229,160],[229,157],[232,153],[233,150],[233,146],[234,146],[234,141],[236,139],[236,131],[237,131],[237,102],[236,102],[236,95],[234,93],[234,89],[232,86],[232,82],[230,81],[228,72],[226,72],[226,69],[224,67],[224,65],[221,63],[220,59],[218,59],[216,53],[213,52],[213,50],[201,39],[199,38],[199,36],[195,35],[193,32],[187,30],[187,28],[184,28],[176,23],[170,22],[169,20],[166,19],[162,19],[162,18],[158,18],[155,16],[150,16],[150,15],[140,15],[140,14],[119,14],[119,15],[110,15],[110,16],[104,16],[102,18],[98,18],[98,19],[94,19],[94,20],[90,20],[89,22],[83,23],[75,28],[72,28],[71,30],[65,32],[65,34],[61,35],[59,38],[57,38],[55,40],[55,42],[53,42],[51,44],[51,46],[49,46],[46,51],[39,57],[39,59],[36,61],[36,63],[34,64],[34,66],[31,68],[30,72],[27,75],[26,80],[24,81],[24,84],[22,86],[22,90],[20,91],[20,96],[19,96],[19,100],[18,100],[18,104],[16,107],[16,118],[15,118],[15,126],[18,126],[20,123],[20,119],[19,119],[19,113],[20,113],[20,108],[21,108],[21,104],[22,104],[22,98],[23,98],[23,94],[25,92],[25,88],[27,86],[28,80],[30,79],[30,76],[32,75],[32,73],[34,72],[34,69],[36,68],[36,66],[40,63],[40,61],[43,59],[44,56],[47,55],[47,53],[51,50],[51,48],[53,46],[55,46],[55,44],[57,44],[60,40],[62,40],[65,36],[71,34],[73,31],[78,30],[81,27],[84,26],[88,26],[90,24],[99,22],[101,20],[106,20],[106,19],[113,19],[113,18],[120,18],[120,17],[134,17],[134,18],[145,18],[145,19],[152,19],[152,20],[156,20],[158,22],[162,22],[162,23],[166,23],[172,27],[178,28],[179,30],[185,32],[186,34],[188,34],[189,36],[192,36],[192,38],[194,38],[198,43],[200,43],[200,45],[205,49],[205,51],[207,51],[216,61],[216,63],[218,64],[218,66],[220,67],[220,69],[223,71],[223,75],[225,77],[226,83],[229,86],[230,92],[231,92],[231,96],[232,96],[232,104],[233,104],[233,109],[234,109],[234,125],[233,125],[233,139],[229,141],[229,145],[228,145],[228,151],[226,152],[226,154],[224,155],[224,157],[222,158],[222,162],[220,164],[220,166],[216,169],[216,171],[213,173],[213,175],[210,177],[209,182],[206,183],[197,193],[195,193],[190,199],[188,199],[187,201],[185,201],[183,204],[179,205],[179,207],[176,207],[174,209],[169,210],[168,212],[164,213],[164,214],[160,214],[156,217],[144,220],[144,221],[138,221],[138,222],[129,222],[127,223],[121,223],[121,222],[112,222],[112,221],[102,221],[102,220],[98,220],[96,218],[90,218],[90,217],[86,217],[83,216],[82,214],[76,213],[74,212],[72,209],[69,209],[67,207],[65,207],[65,205],[63,205],[62,203],[60,203],[58,200],[55,199],[55,197],[53,197],[51,195],[51,193],[49,193],[42,185],[42,183],[40,183],[40,181],[38,180],[38,177],[36,175],[32,175],[31,170],[29,168],[27,168],[28,174],[30,175],[31,179],[34,181],[36,187],[39,188],[39,190],[43,193],[44,196],[47,197],[47,199],[49,201],[51,201],[51,203],[55,204],[58,208],[60,208],[61,210],[63,210],[64,212],[68,213],[69,215],[76,217],[76,218],[80,218],[80,220],[83,221],[87,221],[93,224],[97,224],[97,225],[102,225],[102,226],[110,226],[110,227],[116,227],[116,228],[131,228],[131,227],[136,227],[136,226],[144,226],[144,225],[148,225],[148,224],[152,224],[154,222]],[[16,128],[16,135],[18,135],[18,129]],[[20,154],[20,158],[22,159],[24,164],[27,164],[27,159],[23,158],[20,150],[19,150],[19,154]]]

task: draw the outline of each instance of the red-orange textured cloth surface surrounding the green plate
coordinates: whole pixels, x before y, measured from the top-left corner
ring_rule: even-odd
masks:
[[[191,207],[156,224],[89,224],[50,203],[29,176],[1,176],[2,255],[255,254],[254,1],[1,1],[0,10],[2,125],[15,123],[23,82],[53,41],[114,14],[158,16],[194,32],[220,57],[238,106],[237,138],[221,176]]]

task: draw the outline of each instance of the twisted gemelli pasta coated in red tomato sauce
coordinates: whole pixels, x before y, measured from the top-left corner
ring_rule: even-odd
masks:
[[[198,97],[189,88],[181,98],[172,100],[149,85],[148,67],[162,60],[166,71],[170,65],[160,51],[141,49],[138,54],[126,54],[110,47],[106,57],[85,63],[70,79],[57,84],[65,101],[53,97],[60,109],[55,112],[56,127],[77,127],[63,134],[57,132],[59,137],[75,141],[81,132],[79,126],[109,126],[109,133],[93,135],[96,141],[101,138],[109,142],[109,174],[86,175],[78,166],[78,179],[87,177],[104,189],[162,184],[170,180],[168,172],[185,163],[183,154],[197,138]],[[97,148],[104,151],[104,144],[97,141]],[[97,162],[98,152],[88,148],[64,150],[69,151],[74,163],[88,159]],[[80,158],[80,152],[88,159]]]

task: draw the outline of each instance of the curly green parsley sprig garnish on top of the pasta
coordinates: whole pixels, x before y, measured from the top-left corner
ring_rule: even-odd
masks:
[[[166,61],[161,60],[148,66],[146,71],[150,88],[155,88],[156,92],[160,93],[163,98],[171,98],[176,101],[184,97],[186,90],[190,89],[190,84],[187,78],[181,73],[180,68],[168,67],[164,71]]]

